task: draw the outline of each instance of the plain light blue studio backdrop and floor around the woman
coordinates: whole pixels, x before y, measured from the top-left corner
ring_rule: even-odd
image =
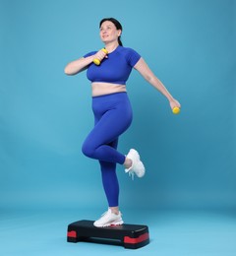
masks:
[[[132,181],[122,166],[118,167],[124,218],[130,223],[143,220],[150,224],[151,248],[158,248],[158,255],[207,255],[203,251],[210,249],[215,250],[213,255],[226,255],[227,250],[232,253],[228,255],[235,255],[235,229],[228,229],[235,224],[230,224],[230,218],[225,224],[213,219],[215,229],[210,229],[208,220],[212,219],[208,217],[202,226],[198,218],[190,218],[194,220],[191,225],[186,216],[178,219],[178,215],[153,221],[160,209],[236,208],[235,10],[233,0],[0,0],[3,242],[6,245],[12,234],[20,237],[29,226],[27,238],[32,230],[38,236],[31,247],[27,241],[18,241],[16,254],[12,247],[5,250],[6,255],[19,255],[19,251],[27,255],[28,250],[29,255],[32,250],[33,255],[46,255],[40,242],[50,246],[51,237],[43,224],[48,223],[53,235],[60,233],[51,245],[58,247],[65,242],[66,224],[95,219],[106,209],[98,164],[81,153],[93,124],[89,81],[86,73],[64,74],[68,62],[103,46],[98,24],[104,17],[121,22],[124,45],[145,58],[182,104],[181,113],[173,115],[167,100],[133,71],[127,89],[134,121],[121,137],[119,150],[126,154],[136,148],[147,175]],[[62,209],[70,211],[60,219],[57,214]],[[142,215],[141,209],[149,215]],[[53,216],[41,216],[44,210],[53,211]],[[13,220],[14,228],[19,229],[9,227]],[[153,230],[155,225],[158,227]],[[181,230],[184,226],[192,226],[197,234],[189,227]],[[206,226],[212,232],[222,227],[227,241],[206,232]],[[200,242],[202,233],[215,238],[209,241],[211,247],[208,240],[195,247],[194,241]],[[190,247],[185,247],[187,240]],[[223,253],[215,247],[220,241]],[[68,255],[72,247],[67,246],[65,254],[60,247],[61,254],[55,254],[54,247],[48,253]],[[90,248],[96,251],[101,247]]]

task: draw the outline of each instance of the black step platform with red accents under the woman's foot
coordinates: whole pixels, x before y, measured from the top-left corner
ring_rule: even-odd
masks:
[[[149,243],[148,225],[122,224],[96,227],[93,221],[79,221],[68,225],[68,242],[95,242],[122,245],[127,249],[138,249]]]

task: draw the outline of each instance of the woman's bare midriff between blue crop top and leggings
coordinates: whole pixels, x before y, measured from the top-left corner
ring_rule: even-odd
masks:
[[[91,83],[91,96],[105,96],[115,93],[126,92],[125,85],[117,85],[110,83]]]

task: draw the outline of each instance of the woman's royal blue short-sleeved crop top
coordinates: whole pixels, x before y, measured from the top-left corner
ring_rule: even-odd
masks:
[[[95,54],[91,51],[84,57]],[[103,82],[111,84],[125,85],[132,68],[140,60],[141,55],[135,50],[123,46],[118,46],[107,55],[99,66],[91,63],[87,70],[87,77],[91,82]]]

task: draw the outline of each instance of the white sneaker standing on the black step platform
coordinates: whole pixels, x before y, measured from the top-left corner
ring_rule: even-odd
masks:
[[[113,214],[110,209],[108,209],[108,211],[105,212],[99,220],[93,223],[93,225],[97,227],[104,227],[104,226],[118,225],[118,224],[124,224],[121,218],[121,212],[119,212],[119,214],[116,215],[116,214]]]

